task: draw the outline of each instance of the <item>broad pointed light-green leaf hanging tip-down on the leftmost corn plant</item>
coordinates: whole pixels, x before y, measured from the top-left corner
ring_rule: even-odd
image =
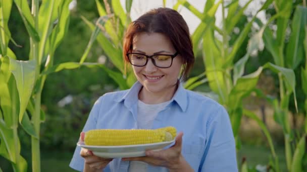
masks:
[[[13,73],[19,93],[19,122],[22,121],[35,82],[35,60],[17,61],[10,58],[10,71]]]

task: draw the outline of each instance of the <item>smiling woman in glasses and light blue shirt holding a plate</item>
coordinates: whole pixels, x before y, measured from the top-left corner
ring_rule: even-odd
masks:
[[[165,126],[181,132],[174,145],[142,157],[106,159],[77,147],[70,166],[80,171],[237,171],[227,112],[217,102],[185,90],[178,79],[187,76],[194,62],[182,16],[169,8],[142,15],[126,31],[123,54],[138,81],[129,90],[101,96],[83,132]]]

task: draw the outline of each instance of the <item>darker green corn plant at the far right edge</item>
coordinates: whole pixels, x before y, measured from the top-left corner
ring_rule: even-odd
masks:
[[[305,3],[305,1],[303,2]],[[306,45],[305,28],[307,24],[307,8],[300,5],[293,7],[290,1],[276,1],[274,7],[277,13],[281,11],[284,11],[284,13],[276,17],[276,37],[273,36],[273,32],[269,28],[265,29],[263,34],[265,47],[272,54],[276,65],[294,70],[304,59],[304,49],[305,54],[307,50],[306,46],[304,47],[304,45]],[[291,33],[288,43],[285,44],[287,27],[292,9],[295,9],[295,12],[290,25]],[[289,99],[294,90],[289,88],[288,83],[281,76],[281,73],[278,73],[278,77],[280,101],[274,102],[274,117],[275,121],[283,128],[287,169],[289,171],[303,171],[302,158],[305,154],[305,139],[307,133],[304,131],[301,135],[297,137],[294,136],[295,131],[291,129],[289,120]],[[307,77],[304,69],[301,70],[301,78],[303,84],[302,88],[305,92],[304,84]]]

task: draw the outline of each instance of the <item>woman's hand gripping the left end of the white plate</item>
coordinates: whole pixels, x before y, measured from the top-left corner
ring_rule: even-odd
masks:
[[[84,141],[84,132],[80,134],[80,140]],[[112,158],[101,158],[95,156],[92,151],[81,148],[80,155],[84,158],[84,170],[83,171],[99,171],[105,168],[109,162],[111,162]]]

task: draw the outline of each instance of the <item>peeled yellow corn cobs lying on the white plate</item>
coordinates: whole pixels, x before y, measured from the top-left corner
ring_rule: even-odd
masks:
[[[165,127],[154,130],[94,129],[85,133],[84,143],[86,145],[106,146],[157,143],[173,140],[174,133],[176,133],[176,129],[174,127]]]

